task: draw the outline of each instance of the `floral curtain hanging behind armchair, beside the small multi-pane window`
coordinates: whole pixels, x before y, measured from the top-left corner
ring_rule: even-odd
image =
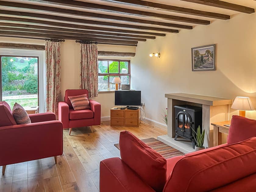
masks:
[[[89,97],[98,96],[97,44],[80,44],[80,88],[87,89]]]

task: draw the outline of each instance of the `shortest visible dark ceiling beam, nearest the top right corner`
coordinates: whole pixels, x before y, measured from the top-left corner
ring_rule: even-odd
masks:
[[[255,10],[251,7],[246,7],[243,5],[237,5],[225,1],[219,1],[219,0],[181,0],[181,1],[187,1],[187,2],[192,2],[192,3],[198,3],[202,5],[209,5],[212,7],[219,7],[223,9],[229,9],[233,11],[238,11],[238,12],[244,12],[244,13],[254,13]]]

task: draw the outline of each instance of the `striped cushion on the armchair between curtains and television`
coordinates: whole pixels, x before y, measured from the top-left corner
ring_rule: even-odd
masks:
[[[87,94],[78,95],[78,96],[69,96],[68,97],[74,110],[81,109],[90,109],[90,102],[87,98]]]

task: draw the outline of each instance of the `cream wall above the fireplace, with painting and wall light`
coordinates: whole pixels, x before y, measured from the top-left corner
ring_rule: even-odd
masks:
[[[163,123],[165,93],[191,93],[223,98],[251,97],[256,107],[256,14],[236,14],[208,26],[180,30],[139,43],[132,59],[131,81],[142,91],[147,118]],[[216,44],[216,71],[192,72],[191,48]],[[161,52],[161,58],[149,57]],[[229,119],[237,110],[230,109]],[[247,112],[256,119],[256,112]]]

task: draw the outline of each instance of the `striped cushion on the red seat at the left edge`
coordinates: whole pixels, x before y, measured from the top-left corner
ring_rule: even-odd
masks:
[[[20,124],[26,124],[31,123],[31,120],[25,111],[25,109],[19,105],[18,103],[15,103],[12,108],[12,115],[18,125]]]

